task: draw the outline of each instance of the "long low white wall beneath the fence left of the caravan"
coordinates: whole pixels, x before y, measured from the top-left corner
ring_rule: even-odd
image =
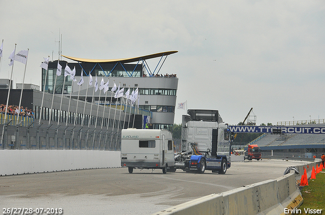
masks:
[[[0,176],[120,167],[120,154],[98,150],[0,150]]]

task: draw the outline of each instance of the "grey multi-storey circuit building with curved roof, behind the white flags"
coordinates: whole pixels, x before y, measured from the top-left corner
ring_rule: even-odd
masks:
[[[10,115],[0,122],[5,124],[2,149],[100,149],[119,150],[122,128],[149,128],[172,130],[175,116],[178,78],[174,71],[161,75],[161,66],[167,56],[177,51],[157,53],[118,60],[92,60],[63,56],[73,62],[60,60],[62,71],[68,65],[76,69],[73,82],[70,75],[56,75],[58,61],[42,68],[41,91],[23,90],[21,106],[32,108],[33,117]],[[147,60],[160,58],[154,69]],[[166,71],[164,71],[164,74]],[[92,85],[89,85],[89,74]],[[158,75],[159,74],[159,75]],[[77,82],[83,76],[84,83]],[[95,92],[101,80],[109,80],[109,91]],[[124,88],[122,98],[114,98],[113,83]],[[125,93],[139,90],[135,104],[126,99]],[[45,89],[43,94],[43,89]],[[55,92],[53,94],[53,91]],[[0,89],[0,104],[6,104],[8,89]],[[9,105],[19,104],[21,90],[10,92]],[[44,95],[44,99],[43,99]],[[63,96],[62,96],[63,95]],[[24,126],[16,126],[16,125]],[[19,135],[20,134],[20,135]]]

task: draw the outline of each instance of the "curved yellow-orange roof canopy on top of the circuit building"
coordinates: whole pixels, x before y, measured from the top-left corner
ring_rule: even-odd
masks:
[[[174,53],[177,53],[178,51],[170,51],[170,52],[160,52],[156,54],[151,54],[151,55],[145,55],[141,57],[135,57],[135,58],[124,58],[124,59],[112,59],[112,60],[96,60],[96,59],[84,59],[84,58],[75,58],[75,57],[69,57],[65,55],[61,55],[64,58],[68,58],[70,60],[78,61],[78,62],[88,62],[88,63],[116,63],[116,62],[121,62],[121,63],[132,63],[132,62],[138,62],[140,60],[147,60],[151,58],[158,58],[158,57],[163,57],[163,56],[168,56]]]

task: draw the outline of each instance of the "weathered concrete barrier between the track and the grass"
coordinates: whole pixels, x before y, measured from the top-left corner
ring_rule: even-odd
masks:
[[[275,180],[211,194],[151,215],[284,214],[285,210],[292,211],[302,204],[303,198],[299,190],[300,178],[305,169],[307,177],[310,178],[312,168],[317,164],[319,162],[296,166],[299,173],[291,171]]]

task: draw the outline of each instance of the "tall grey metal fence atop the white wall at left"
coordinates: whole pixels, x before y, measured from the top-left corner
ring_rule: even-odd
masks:
[[[18,122],[18,124],[17,124]],[[15,125],[10,125],[11,123]],[[123,124],[117,128],[60,126],[30,123],[21,126],[19,121],[8,120],[0,125],[0,149],[78,149],[120,150]],[[124,126],[127,126],[125,124]]]

